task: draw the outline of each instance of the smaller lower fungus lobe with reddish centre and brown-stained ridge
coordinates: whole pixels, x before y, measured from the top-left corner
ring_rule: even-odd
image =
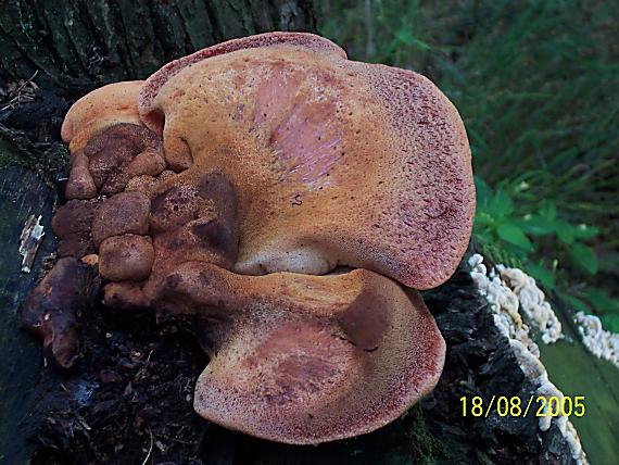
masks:
[[[189,262],[154,305],[214,331],[197,412],[270,440],[316,443],[386,425],[431,390],[444,360],[418,293],[366,269],[242,276]]]

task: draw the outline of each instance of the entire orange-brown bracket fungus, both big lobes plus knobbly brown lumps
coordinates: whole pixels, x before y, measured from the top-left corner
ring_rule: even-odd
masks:
[[[434,387],[445,344],[417,289],[457,266],[475,191],[464,125],[430,80],[270,33],[94,90],[62,136],[61,255],[98,253],[104,304],[195,335],[201,416],[319,443]]]

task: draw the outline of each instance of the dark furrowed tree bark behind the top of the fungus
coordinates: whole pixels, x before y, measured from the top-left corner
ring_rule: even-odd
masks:
[[[313,0],[0,0],[0,79],[75,98],[235,37],[315,30]]]

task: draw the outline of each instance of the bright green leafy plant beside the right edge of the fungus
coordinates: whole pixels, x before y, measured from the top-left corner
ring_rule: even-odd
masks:
[[[570,272],[577,269],[591,277],[598,273],[597,254],[588,243],[596,239],[599,229],[563,219],[552,200],[541,202],[538,211],[518,211],[515,208],[521,204],[518,196],[528,188],[520,184],[492,190],[476,177],[473,237],[478,244],[493,262],[523,268],[545,289],[558,289],[576,310],[588,313],[594,310],[602,315],[606,327],[619,331],[619,301],[607,290],[594,286],[567,290],[573,278]]]

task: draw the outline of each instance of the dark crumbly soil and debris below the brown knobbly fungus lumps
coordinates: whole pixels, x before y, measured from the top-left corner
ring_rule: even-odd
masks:
[[[35,464],[190,463],[205,425],[191,407],[207,360],[191,338],[150,316],[119,318],[93,309],[83,318],[84,360],[75,374],[48,369]]]

